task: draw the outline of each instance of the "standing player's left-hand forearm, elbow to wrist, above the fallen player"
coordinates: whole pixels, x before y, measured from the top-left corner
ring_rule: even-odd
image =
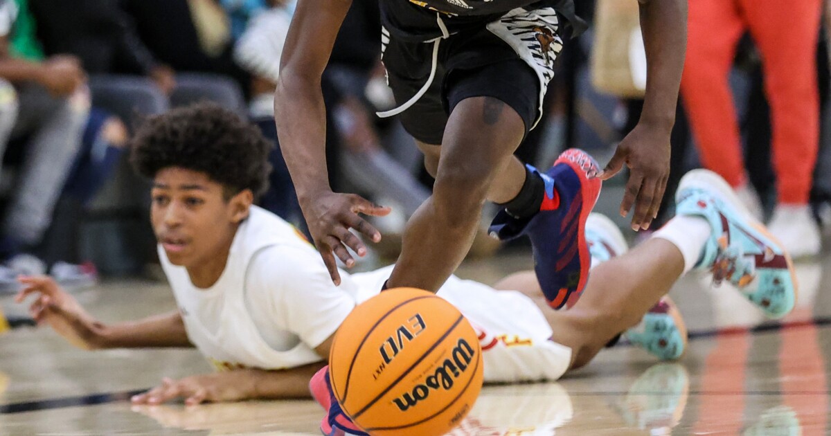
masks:
[[[331,190],[326,164],[326,106],[320,78],[284,69],[274,95],[280,149],[297,197]]]

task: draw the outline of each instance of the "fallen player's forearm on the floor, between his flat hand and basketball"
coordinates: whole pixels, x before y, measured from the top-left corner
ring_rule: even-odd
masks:
[[[244,370],[253,380],[251,399],[309,398],[309,380],[312,380],[326,361],[292,368],[290,370]]]

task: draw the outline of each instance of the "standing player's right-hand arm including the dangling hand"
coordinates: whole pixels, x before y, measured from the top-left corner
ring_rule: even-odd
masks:
[[[631,170],[621,215],[632,205],[632,229],[649,228],[657,216],[670,167],[670,133],[675,124],[678,88],[686,52],[686,0],[638,0],[647,51],[647,93],[641,120],[624,138],[602,179]]]

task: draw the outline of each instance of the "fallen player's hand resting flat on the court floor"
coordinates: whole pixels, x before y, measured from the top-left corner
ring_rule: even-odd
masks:
[[[133,404],[162,404],[184,398],[184,404],[238,401],[256,396],[255,378],[249,370],[233,370],[216,374],[193,375],[181,380],[165,377],[161,385],[144,394],[133,396]]]

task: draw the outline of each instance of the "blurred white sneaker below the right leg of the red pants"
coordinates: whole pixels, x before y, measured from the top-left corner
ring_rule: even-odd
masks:
[[[779,239],[790,257],[816,256],[821,240],[819,226],[811,208],[805,205],[779,204],[768,223],[768,230]]]

